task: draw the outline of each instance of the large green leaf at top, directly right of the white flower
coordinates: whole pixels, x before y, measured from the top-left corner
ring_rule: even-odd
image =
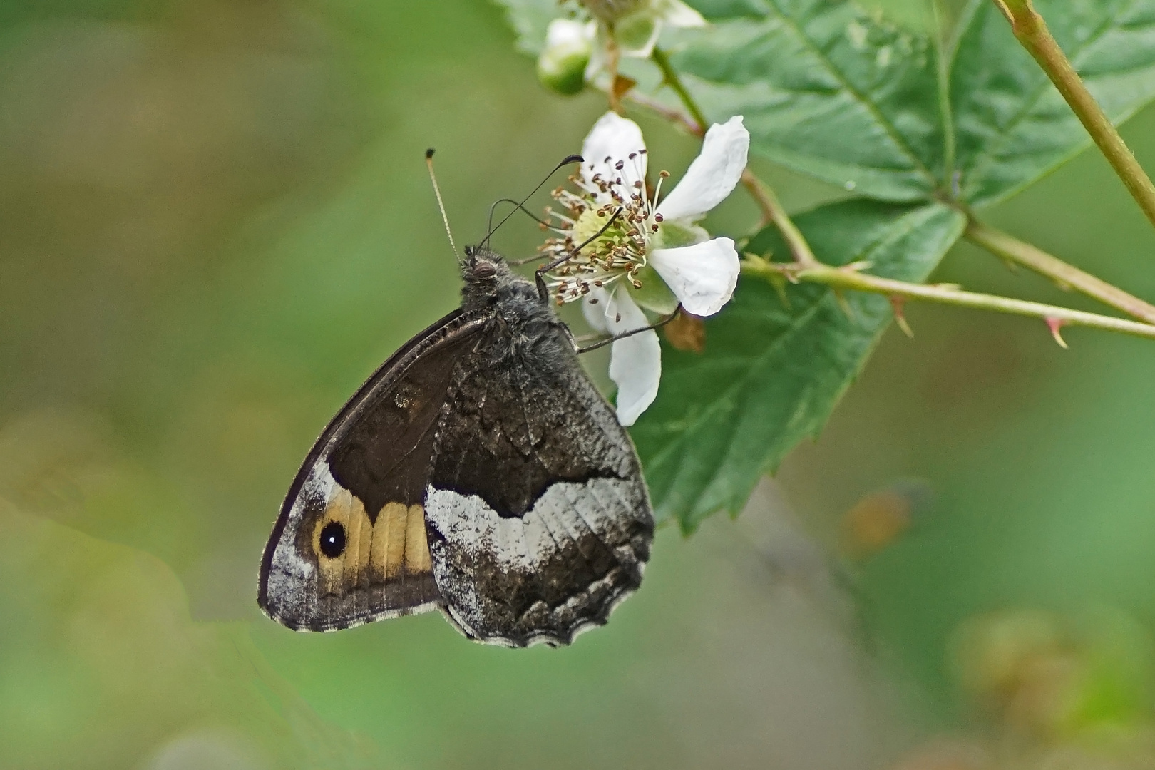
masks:
[[[891,201],[944,178],[936,53],[929,38],[849,1],[706,0],[675,66],[707,117],[745,117],[751,149]]]

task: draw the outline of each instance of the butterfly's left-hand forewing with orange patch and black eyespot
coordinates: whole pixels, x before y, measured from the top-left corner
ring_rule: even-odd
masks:
[[[441,604],[424,495],[437,423],[482,323],[452,313],[394,353],[337,413],[297,473],[261,562],[258,600],[298,630]]]

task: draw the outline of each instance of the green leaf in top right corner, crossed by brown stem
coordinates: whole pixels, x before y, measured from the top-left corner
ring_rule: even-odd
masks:
[[[1155,98],[1155,3],[1036,0],[1035,8],[1113,122]],[[971,205],[1013,195],[1091,143],[990,0],[974,0],[951,94],[961,194]]]

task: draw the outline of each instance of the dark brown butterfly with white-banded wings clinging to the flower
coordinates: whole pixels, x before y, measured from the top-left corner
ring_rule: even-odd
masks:
[[[440,610],[478,642],[561,645],[641,584],[641,464],[543,270],[486,246],[461,269],[461,307],[362,386],[289,489],[258,590],[289,628]]]

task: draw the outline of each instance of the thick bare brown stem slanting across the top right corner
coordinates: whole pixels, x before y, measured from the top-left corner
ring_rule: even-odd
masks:
[[[1135,156],[1111,125],[1103,109],[1095,102],[1063,48],[1055,42],[1046,22],[1035,10],[1031,0],[994,0],[1003,15],[1011,22],[1015,38],[1035,58],[1046,76],[1067,100],[1087,133],[1106,156],[1115,172],[1126,185],[1147,218],[1155,225],[1155,185],[1143,172]]]

